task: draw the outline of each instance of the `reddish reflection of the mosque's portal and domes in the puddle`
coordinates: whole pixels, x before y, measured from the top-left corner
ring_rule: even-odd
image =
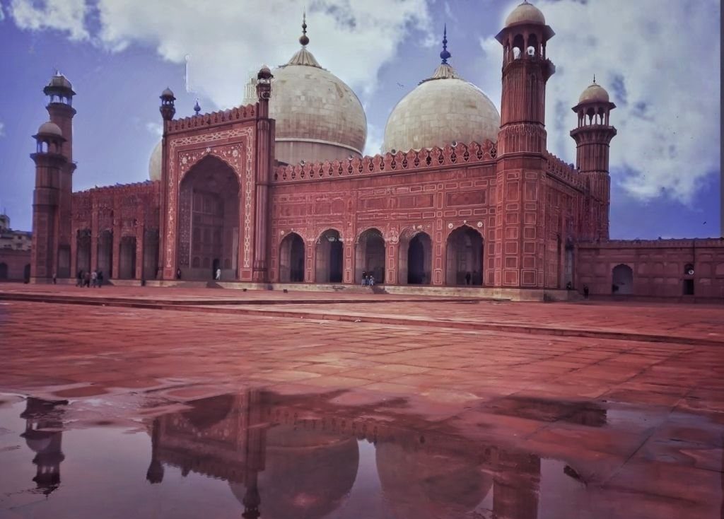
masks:
[[[190,405],[153,422],[146,477],[161,483],[167,465],[224,479],[244,518],[334,515],[361,477],[358,440],[375,446],[391,517],[468,517],[482,502],[499,519],[538,516],[536,455],[415,430],[409,418],[372,421],[305,397],[251,390]]]

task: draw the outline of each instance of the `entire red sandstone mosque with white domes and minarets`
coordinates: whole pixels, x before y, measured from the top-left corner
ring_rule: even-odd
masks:
[[[554,34],[527,1],[510,13],[496,36],[500,114],[447,62],[444,39],[437,69],[390,114],[384,154],[363,156],[363,107],[308,50],[304,24],[300,50],[259,70],[243,106],[174,119],[164,90],[151,180],[79,193],[75,93],[55,75],[31,155],[31,278],[98,269],[171,285],[220,271],[222,286],[343,290],[371,274],[392,292],[722,298],[723,240],[610,240],[615,104],[601,85],[571,100],[576,165],[547,151]]]

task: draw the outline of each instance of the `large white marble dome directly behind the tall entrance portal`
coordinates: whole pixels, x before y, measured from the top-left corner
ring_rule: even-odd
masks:
[[[272,74],[269,117],[276,119],[277,160],[298,164],[362,155],[367,138],[362,104],[339,77],[321,68],[306,46]],[[247,103],[256,103],[251,85]]]

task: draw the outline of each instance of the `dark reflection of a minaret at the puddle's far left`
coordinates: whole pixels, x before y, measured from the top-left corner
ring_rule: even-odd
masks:
[[[46,402],[28,398],[25,411],[20,415],[20,418],[26,420],[25,432],[20,436],[36,452],[33,465],[37,465],[38,471],[33,481],[38,489],[43,489],[46,496],[60,485],[60,464],[65,459],[61,450],[63,423],[62,410],[56,410],[55,407],[67,403],[67,400]]]

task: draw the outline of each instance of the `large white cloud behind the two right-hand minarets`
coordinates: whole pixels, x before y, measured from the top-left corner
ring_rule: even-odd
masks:
[[[691,202],[707,173],[719,168],[719,3],[672,1],[657,17],[658,0],[542,0],[536,7],[556,33],[547,47],[557,66],[546,97],[552,153],[575,161],[571,106],[595,73],[617,105],[611,114],[618,129],[610,156],[614,182],[636,198],[665,194]],[[500,104],[502,49],[492,37],[481,46],[487,73],[480,85]]]

